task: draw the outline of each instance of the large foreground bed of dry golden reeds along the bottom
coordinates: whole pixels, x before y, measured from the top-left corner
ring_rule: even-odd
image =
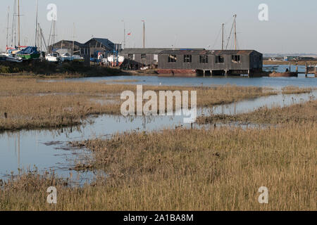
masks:
[[[51,180],[18,179],[0,191],[0,210],[317,210],[316,125],[178,129],[88,141],[93,166],[110,175],[106,181],[84,188],[56,184],[58,204],[49,205]],[[261,186],[269,190],[267,205],[257,201]]]

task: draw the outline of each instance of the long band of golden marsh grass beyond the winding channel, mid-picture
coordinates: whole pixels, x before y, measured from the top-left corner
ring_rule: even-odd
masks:
[[[136,91],[136,85],[1,78],[0,131],[72,126],[89,115],[120,115],[120,93],[127,90]],[[272,89],[230,85],[144,86],[147,90],[197,90],[198,107],[275,94]]]

